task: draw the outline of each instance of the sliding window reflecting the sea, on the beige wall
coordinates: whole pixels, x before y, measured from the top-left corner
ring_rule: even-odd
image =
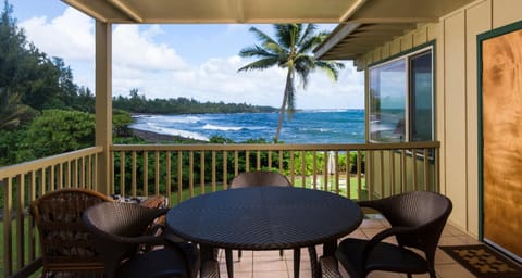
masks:
[[[370,141],[434,139],[432,48],[370,68]]]

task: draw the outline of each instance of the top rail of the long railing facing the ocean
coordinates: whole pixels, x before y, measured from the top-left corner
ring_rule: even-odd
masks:
[[[113,144],[111,151],[347,151],[439,148],[439,141],[401,143],[233,143],[233,144]]]

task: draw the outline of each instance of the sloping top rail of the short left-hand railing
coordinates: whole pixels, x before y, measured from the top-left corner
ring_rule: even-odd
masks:
[[[86,149],[82,149],[78,151],[72,151],[67,153],[62,153],[36,161],[24,162],[15,165],[10,165],[5,167],[0,167],[0,180],[7,177],[13,177],[16,175],[22,175],[35,169],[49,167],[51,165],[57,165],[59,163],[64,163],[74,159],[88,156],[97,153],[101,153],[103,151],[102,147],[90,147]]]

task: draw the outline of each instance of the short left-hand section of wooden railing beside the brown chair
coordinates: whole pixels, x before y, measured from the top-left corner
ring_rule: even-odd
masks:
[[[15,269],[17,277],[27,277],[41,266],[28,204],[60,188],[97,190],[97,163],[102,151],[103,148],[94,147],[0,168],[3,277],[11,277]]]

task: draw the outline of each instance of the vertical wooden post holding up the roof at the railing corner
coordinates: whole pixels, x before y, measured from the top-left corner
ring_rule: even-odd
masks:
[[[112,193],[112,24],[96,21],[96,146],[103,152],[98,156],[96,189]]]

